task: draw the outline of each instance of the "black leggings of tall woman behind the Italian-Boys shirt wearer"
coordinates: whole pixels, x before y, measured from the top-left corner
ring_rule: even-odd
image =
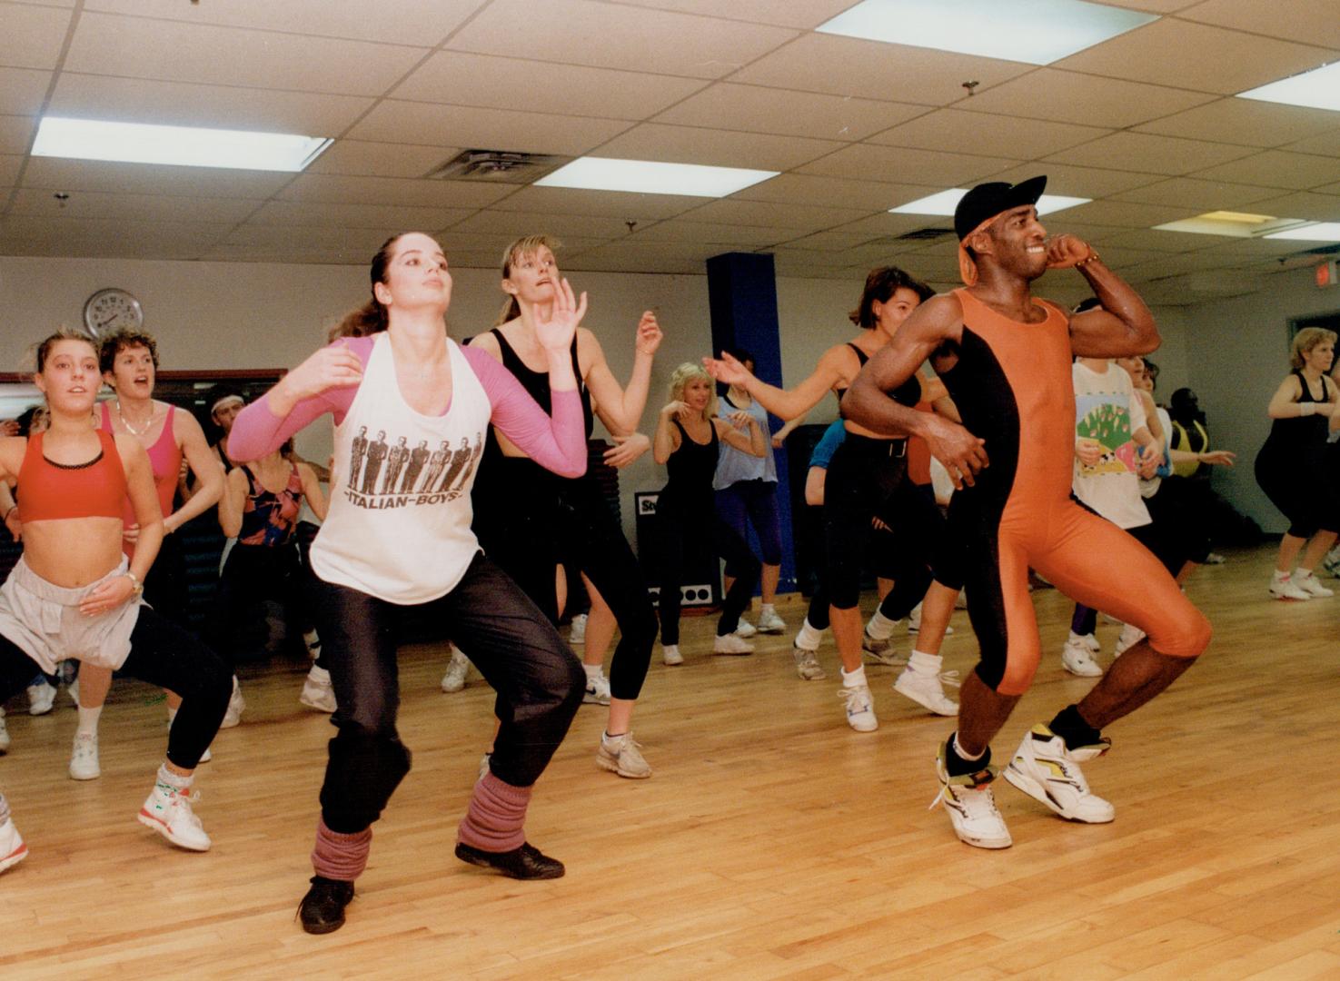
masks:
[[[657,618],[638,558],[599,484],[555,477],[532,460],[489,460],[486,466],[497,469],[488,481],[492,500],[476,497],[484,549],[552,623],[559,622],[557,566],[584,572],[619,625],[610,694],[636,698],[651,663]]]

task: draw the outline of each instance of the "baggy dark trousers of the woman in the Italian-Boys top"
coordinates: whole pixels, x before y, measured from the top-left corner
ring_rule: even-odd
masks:
[[[552,570],[551,570],[552,579]],[[551,582],[552,586],[552,582]],[[339,708],[331,722],[322,820],[351,835],[375,822],[410,771],[399,740],[399,626],[421,614],[461,645],[497,692],[500,728],[489,769],[512,787],[533,784],[568,732],[586,677],[553,625],[484,553],[445,596],[399,606],[312,578],[312,610]]]

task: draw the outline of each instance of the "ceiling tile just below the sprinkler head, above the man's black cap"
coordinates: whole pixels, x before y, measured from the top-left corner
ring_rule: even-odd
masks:
[[[961,105],[972,106],[973,101]],[[1034,159],[1087,143],[1108,133],[1111,130],[1097,126],[939,109],[870,137],[867,142],[946,153],[972,150],[1016,159]]]

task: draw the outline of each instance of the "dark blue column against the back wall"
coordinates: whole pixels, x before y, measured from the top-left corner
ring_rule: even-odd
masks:
[[[725,252],[708,260],[708,302],[712,310],[712,352],[744,347],[754,356],[754,374],[781,386],[781,335],[777,327],[777,275],[770,255]],[[725,387],[718,386],[724,393]],[[776,432],[781,421],[768,417]],[[791,482],[787,454],[777,461],[777,511],[781,523],[781,579],[777,592],[796,588],[795,548],[791,533]]]

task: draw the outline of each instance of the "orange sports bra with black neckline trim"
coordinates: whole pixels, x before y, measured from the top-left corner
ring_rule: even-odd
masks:
[[[54,521],[66,517],[114,517],[121,520],[126,500],[126,470],[117,441],[100,429],[102,449],[87,464],[54,464],[42,453],[46,433],[28,437],[19,468],[19,520]]]

